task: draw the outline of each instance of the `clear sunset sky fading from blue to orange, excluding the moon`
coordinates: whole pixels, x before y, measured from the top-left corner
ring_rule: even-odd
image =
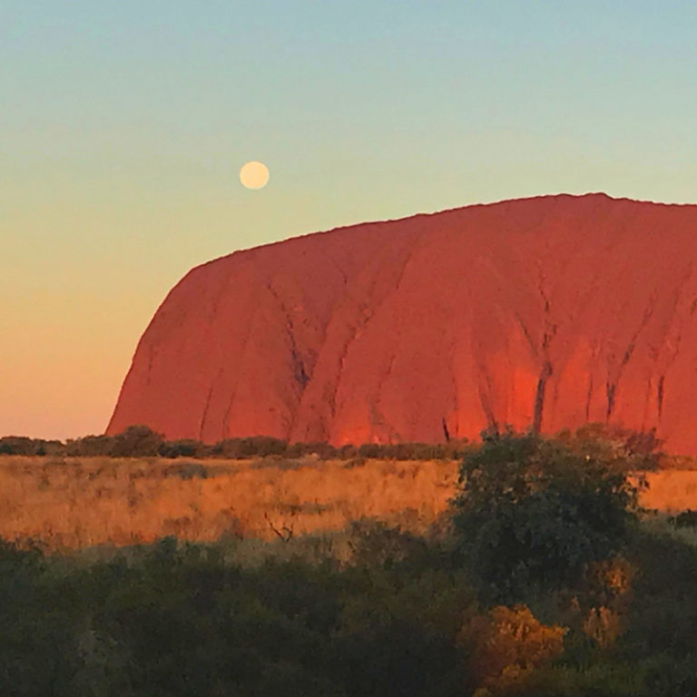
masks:
[[[0,0],[0,436],[103,433],[168,290],[234,250],[697,201],[695,26],[687,0]]]

